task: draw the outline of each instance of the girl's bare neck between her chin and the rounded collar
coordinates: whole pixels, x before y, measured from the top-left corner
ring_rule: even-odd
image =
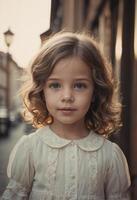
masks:
[[[65,139],[80,139],[86,137],[89,134],[85,123],[77,124],[56,124],[50,125],[50,128],[60,137]]]

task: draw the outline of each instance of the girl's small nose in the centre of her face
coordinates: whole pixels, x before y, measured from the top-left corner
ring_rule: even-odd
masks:
[[[74,95],[71,89],[64,89],[61,97],[62,102],[73,102],[74,101]]]

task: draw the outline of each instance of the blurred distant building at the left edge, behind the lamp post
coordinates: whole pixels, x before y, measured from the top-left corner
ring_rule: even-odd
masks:
[[[0,52],[0,107],[8,111],[16,111],[21,105],[18,96],[22,68],[12,59],[10,54]]]

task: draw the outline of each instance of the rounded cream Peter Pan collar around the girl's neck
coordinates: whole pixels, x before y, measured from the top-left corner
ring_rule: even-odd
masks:
[[[96,151],[103,146],[105,141],[103,136],[100,136],[93,131],[90,131],[89,135],[84,138],[68,140],[59,137],[49,128],[49,126],[38,129],[37,135],[40,136],[43,142],[52,148],[63,148],[72,143],[76,144],[80,149],[84,151]]]

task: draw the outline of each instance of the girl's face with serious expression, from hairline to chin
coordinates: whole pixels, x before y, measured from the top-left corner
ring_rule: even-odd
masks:
[[[48,77],[44,95],[54,124],[84,122],[93,95],[91,69],[79,57],[60,60]]]

